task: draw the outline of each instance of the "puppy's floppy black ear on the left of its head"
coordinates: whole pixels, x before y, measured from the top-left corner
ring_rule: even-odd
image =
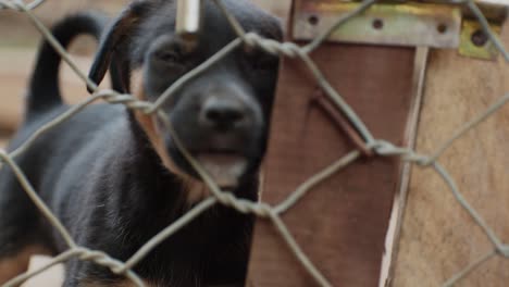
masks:
[[[134,1],[107,29],[88,74],[94,83],[99,85],[104,78],[108,67],[112,65],[114,78],[121,82],[117,86],[122,86],[123,91],[128,89],[129,63],[127,53],[129,39],[140,21],[148,14],[153,2],[149,0]],[[90,89],[88,91],[91,92]]]

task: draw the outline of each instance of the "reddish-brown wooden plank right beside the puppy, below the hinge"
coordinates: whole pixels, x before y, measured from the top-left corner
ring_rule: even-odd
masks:
[[[374,135],[405,144],[413,48],[326,43],[312,54]],[[286,59],[275,101],[262,199],[278,203],[303,180],[355,149],[322,110],[306,67]],[[400,163],[363,159],[320,184],[283,215],[334,286],[376,286]],[[265,221],[258,221],[248,286],[314,286]]]

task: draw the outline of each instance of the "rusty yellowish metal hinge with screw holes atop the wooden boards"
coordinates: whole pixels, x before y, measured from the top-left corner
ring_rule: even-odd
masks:
[[[476,1],[494,32],[507,18],[509,0]],[[296,0],[293,37],[310,40],[331,27],[358,1]],[[496,50],[464,5],[450,1],[381,1],[337,28],[331,41],[458,48],[467,57],[494,59]]]

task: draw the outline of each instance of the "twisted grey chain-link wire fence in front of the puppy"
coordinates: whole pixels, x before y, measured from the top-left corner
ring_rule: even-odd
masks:
[[[344,14],[337,18],[335,25],[333,25],[326,33],[319,35],[313,41],[306,46],[297,46],[293,42],[277,42],[271,39],[265,39],[253,33],[246,33],[237,20],[228,13],[227,9],[224,7],[221,0],[210,0],[213,1],[224,13],[224,16],[228,20],[232,27],[235,29],[238,38],[232,41],[229,45],[224,47],[215,55],[197,66],[195,70],[190,71],[188,74],[175,82],[156,101],[156,102],[146,102],[136,99],[131,95],[121,95],[113,90],[99,89],[98,86],[92,83],[87,76],[80,72],[67,52],[60,46],[60,43],[52,37],[51,33],[47,27],[34,15],[33,10],[37,9],[42,2],[47,0],[36,0],[29,3],[25,3],[21,0],[0,0],[0,9],[12,9],[20,11],[34,23],[36,28],[46,37],[46,39],[54,47],[54,49],[62,55],[63,60],[73,68],[73,71],[87,84],[87,86],[92,89],[94,96],[88,98],[86,101],[80,104],[74,105],[54,121],[47,123],[39,130],[34,133],[28,140],[26,140],[22,146],[16,150],[7,153],[3,150],[0,150],[0,160],[2,162],[2,169],[11,169],[18,182],[23,186],[24,190],[28,197],[34,201],[34,204],[42,212],[42,214],[48,219],[48,221],[59,230],[59,233],[64,238],[65,242],[69,246],[69,250],[55,257],[47,265],[42,266],[39,270],[36,270],[30,273],[22,274],[16,278],[13,278],[4,286],[17,286],[25,282],[26,279],[45,272],[51,266],[65,262],[71,258],[77,258],[83,261],[90,261],[96,264],[105,266],[111,270],[114,274],[124,275],[131,279],[136,286],[145,286],[142,279],[133,271],[140,260],[142,260],[149,252],[151,252],[159,244],[161,244],[166,238],[171,237],[173,234],[179,230],[183,226],[191,222],[198,215],[200,215],[206,210],[210,209],[216,204],[224,204],[231,208],[234,208],[241,213],[251,213],[256,214],[259,217],[266,219],[271,221],[277,232],[281,234],[282,238],[285,240],[287,247],[293,251],[296,259],[302,264],[307,272],[314,278],[316,284],[320,286],[332,286],[325,276],[319,271],[315,266],[315,262],[311,262],[308,257],[302,252],[299,245],[293,237],[291,233],[286,227],[285,223],[282,221],[282,214],[291,209],[299,200],[302,200],[307,192],[310,192],[312,188],[325,180],[327,177],[334,175],[338,171],[346,169],[352,162],[359,160],[362,157],[361,151],[353,150],[346,154],[344,158],[338,159],[328,167],[320,171],[314,176],[309,178],[307,182],[302,183],[286,200],[277,205],[269,205],[263,202],[252,202],[244,199],[238,199],[232,194],[222,191],[218,185],[211,179],[211,177],[204,172],[204,170],[197,163],[195,159],[187,152],[186,147],[179,142],[178,137],[175,135],[175,132],[172,128],[172,124],[167,120],[167,116],[162,113],[159,109],[160,107],[172,97],[172,95],[185,85],[188,80],[193,79],[207,68],[209,68],[214,63],[221,61],[229,52],[234,51],[241,45],[248,45],[251,47],[259,47],[268,53],[272,53],[280,57],[288,57],[300,59],[309,68],[309,72],[314,76],[318,84],[330,97],[330,99],[337,105],[337,108],[348,117],[353,127],[359,132],[362,138],[365,141],[365,146],[378,157],[397,157],[402,161],[413,163],[421,167],[434,170],[447,184],[450,191],[455,196],[459,204],[461,204],[464,210],[472,216],[473,221],[484,230],[485,235],[493,245],[493,250],[483,257],[479,258],[474,262],[468,264],[461,272],[455,274],[450,277],[444,286],[451,286],[458,283],[460,279],[465,277],[470,272],[475,270],[477,266],[482,265],[488,259],[500,255],[504,258],[509,257],[509,246],[505,245],[500,238],[494,233],[494,230],[486,224],[483,217],[470,205],[467,199],[462,196],[458,189],[455,179],[451,178],[447,170],[439,163],[440,155],[460,137],[462,137],[469,130],[475,128],[481,122],[496,113],[507,101],[509,101],[509,92],[501,96],[496,102],[494,102],[485,112],[472,118],[470,122],[465,123],[463,126],[458,127],[458,129],[451,135],[451,137],[438,146],[436,151],[432,154],[421,154],[418,151],[408,149],[406,147],[398,147],[392,142],[388,142],[384,139],[375,138],[370,129],[364,125],[362,120],[356,114],[356,112],[350,108],[350,105],[342,98],[342,96],[330,85],[327,79],[323,76],[320,68],[314,64],[313,60],[310,58],[310,53],[320,47],[324,40],[335,30],[338,26],[343,25],[345,22],[349,21],[351,17],[356,16],[359,13],[362,13],[364,10],[369,9],[370,5],[375,3],[375,0],[364,0],[361,4],[353,11]],[[489,36],[491,41],[504,55],[506,62],[509,62],[509,53],[506,51],[505,47],[498,39],[497,35],[493,33],[489,28],[489,24],[486,17],[483,15],[482,11],[475,4],[473,0],[450,0],[443,1],[448,4],[458,4],[464,5],[470,9],[473,15],[477,18],[479,23],[482,25],[484,33]],[[82,110],[86,109],[89,104],[96,101],[104,101],[111,104],[124,104],[132,110],[137,110],[148,115],[160,117],[165,128],[172,136],[176,139],[176,145],[178,146],[182,153],[189,161],[189,163],[196,169],[198,174],[201,176],[202,180],[209,186],[211,190],[211,197],[203,200],[195,208],[193,208],[184,216],[175,221],[172,225],[167,226],[161,230],[157,236],[150,239],[144,247],[141,247],[131,259],[126,262],[121,262],[111,258],[109,254],[100,250],[90,250],[85,247],[78,246],[67,229],[63,224],[57,219],[51,210],[46,205],[46,203],[38,197],[36,190],[34,190],[30,183],[27,180],[25,174],[16,164],[15,159],[21,153],[25,152],[26,149],[34,144],[34,141],[47,133],[54,126],[61,124],[62,122],[67,121],[73,115],[79,113]]]

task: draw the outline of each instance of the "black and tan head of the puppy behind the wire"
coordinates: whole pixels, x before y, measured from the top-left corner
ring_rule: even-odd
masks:
[[[203,2],[202,27],[193,47],[175,34],[176,1],[132,3],[104,36],[90,78],[99,83],[114,62],[122,67],[125,91],[156,101],[179,77],[237,38],[221,10],[212,1]],[[248,0],[223,2],[247,32],[282,38],[278,20]],[[252,175],[263,157],[277,60],[240,46],[189,80],[162,107],[178,138],[223,188],[235,188]],[[164,165],[196,178],[162,124],[140,113],[136,118]]]

